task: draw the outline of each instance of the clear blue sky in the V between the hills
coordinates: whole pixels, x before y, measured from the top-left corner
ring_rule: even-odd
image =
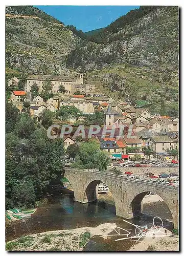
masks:
[[[106,27],[111,22],[139,6],[35,6],[59,19],[65,25],[74,25],[83,32]]]

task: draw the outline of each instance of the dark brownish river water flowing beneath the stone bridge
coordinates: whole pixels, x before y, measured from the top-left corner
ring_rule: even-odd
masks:
[[[171,220],[171,213],[164,202],[148,203],[143,206],[144,216],[140,220],[128,220],[141,226],[151,225],[154,216],[163,220]],[[150,217],[152,216],[152,217]],[[118,227],[129,230],[134,234],[135,228],[116,217],[113,199],[106,194],[100,195],[96,202],[81,204],[75,202],[73,195],[60,195],[50,198],[47,205],[37,209],[27,220],[8,221],[6,223],[6,241],[17,239],[28,234],[59,229],[74,229],[78,227],[96,227],[102,223],[116,223]],[[172,230],[173,223],[164,221],[164,227]],[[90,251],[126,251],[135,241],[117,241],[114,237],[103,239],[93,237],[83,250]]]

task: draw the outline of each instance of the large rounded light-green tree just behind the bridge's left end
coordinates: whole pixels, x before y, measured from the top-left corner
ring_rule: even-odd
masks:
[[[75,163],[72,164],[74,168],[98,168],[101,172],[105,172],[110,162],[108,153],[100,150],[96,140],[82,142],[75,160]]]

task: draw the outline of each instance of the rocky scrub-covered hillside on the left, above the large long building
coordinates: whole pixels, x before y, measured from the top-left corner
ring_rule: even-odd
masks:
[[[13,74],[65,72],[65,56],[82,39],[56,18],[32,6],[6,8],[6,70]]]

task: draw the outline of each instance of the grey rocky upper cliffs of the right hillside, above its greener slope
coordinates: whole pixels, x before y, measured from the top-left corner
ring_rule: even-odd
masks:
[[[85,70],[104,68],[111,63],[178,68],[178,7],[157,8],[106,37],[105,45],[88,42],[74,50],[68,65]]]

